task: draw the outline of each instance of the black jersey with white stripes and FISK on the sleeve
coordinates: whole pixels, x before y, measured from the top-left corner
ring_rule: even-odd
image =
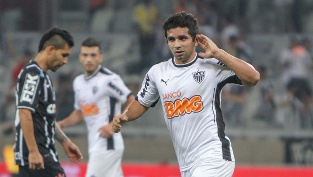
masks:
[[[34,136],[45,162],[57,162],[58,155],[54,146],[55,92],[47,73],[33,60],[27,63],[19,74],[16,108],[15,163],[22,166],[28,164],[28,148],[20,125],[20,108],[32,112]]]

